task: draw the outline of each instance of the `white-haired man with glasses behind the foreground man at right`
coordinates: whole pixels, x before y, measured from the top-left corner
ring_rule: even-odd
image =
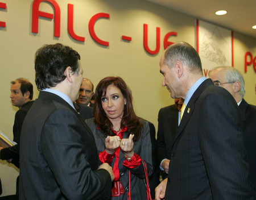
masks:
[[[256,194],[256,106],[248,104],[245,96],[245,81],[242,74],[232,66],[218,66],[210,70],[209,77],[215,85],[224,87],[234,97],[242,113],[243,134],[247,150],[250,180]],[[255,197],[256,198],[256,197]]]

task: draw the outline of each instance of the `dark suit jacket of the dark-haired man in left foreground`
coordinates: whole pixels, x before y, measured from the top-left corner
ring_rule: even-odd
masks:
[[[20,140],[19,199],[106,199],[112,182],[98,168],[97,147],[64,99],[40,91]]]

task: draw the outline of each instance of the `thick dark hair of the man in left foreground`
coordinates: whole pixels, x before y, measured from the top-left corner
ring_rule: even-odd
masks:
[[[38,90],[55,87],[65,79],[64,71],[70,66],[79,73],[80,55],[63,44],[44,45],[35,54],[35,82]]]

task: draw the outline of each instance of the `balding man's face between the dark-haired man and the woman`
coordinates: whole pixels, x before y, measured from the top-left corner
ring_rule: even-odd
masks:
[[[93,107],[93,103],[90,102],[90,99],[92,98],[93,94],[94,92],[92,82],[87,78],[83,78],[82,85],[80,86],[79,90],[79,98],[76,99],[76,103]]]

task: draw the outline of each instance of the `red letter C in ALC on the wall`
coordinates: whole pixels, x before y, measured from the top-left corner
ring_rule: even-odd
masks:
[[[97,19],[99,18],[108,18],[109,19],[109,14],[107,13],[103,13],[103,12],[100,12],[96,15],[93,15],[92,18],[90,18],[90,21],[89,21],[89,32],[90,32],[90,36],[92,36],[92,38],[98,43],[98,44],[101,44],[101,45],[104,45],[104,46],[109,46],[109,42],[108,41],[103,41],[101,40],[100,38],[97,37],[97,35],[95,34],[95,31],[94,31],[94,24],[96,23]]]

